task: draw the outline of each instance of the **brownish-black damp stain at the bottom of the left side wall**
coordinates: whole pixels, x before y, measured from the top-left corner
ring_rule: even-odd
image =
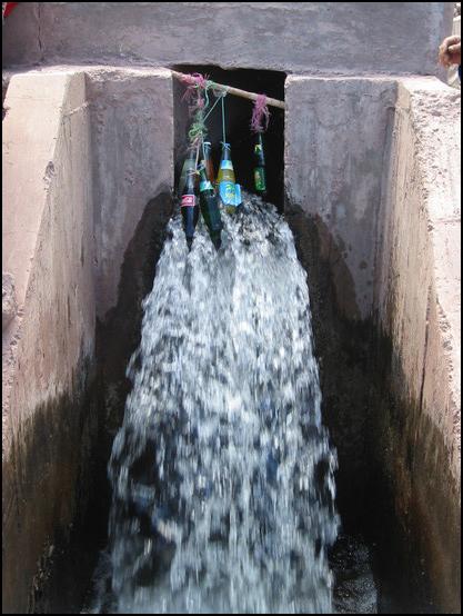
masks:
[[[85,520],[98,491],[92,458],[98,419],[94,366],[83,352],[72,380],[72,390],[36,408],[2,464],[3,614],[21,606],[33,614],[67,613],[81,602],[94,566],[94,535]],[[41,545],[42,537],[53,544]]]

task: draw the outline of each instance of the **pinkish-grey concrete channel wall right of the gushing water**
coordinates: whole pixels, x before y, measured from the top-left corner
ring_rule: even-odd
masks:
[[[309,271],[322,375],[338,377],[322,376],[322,391],[341,473],[360,457],[354,449],[371,449],[439,605],[457,613],[460,93],[435,78],[291,76],[285,101],[288,215]],[[319,298],[324,279],[333,294]],[[352,352],[343,365],[321,319],[333,331],[344,324],[344,346],[365,324],[368,362],[386,376],[376,387],[373,368],[354,375],[366,395],[352,385],[348,414],[333,399]],[[366,441],[351,437],[355,423]]]

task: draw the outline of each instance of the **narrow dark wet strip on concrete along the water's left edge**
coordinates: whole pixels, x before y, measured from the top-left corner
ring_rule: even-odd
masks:
[[[95,495],[100,536],[107,538],[111,490],[107,477],[113,438],[122,425],[125,398],[131,382],[125,369],[141,340],[142,301],[151,291],[154,271],[167,236],[174,203],[161,193],[147,205],[121,268],[118,304],[97,324],[100,436],[98,473],[101,490]]]

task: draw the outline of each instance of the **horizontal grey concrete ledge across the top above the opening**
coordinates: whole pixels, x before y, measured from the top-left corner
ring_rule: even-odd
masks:
[[[452,2],[24,2],[3,59],[436,74],[452,17]]]

